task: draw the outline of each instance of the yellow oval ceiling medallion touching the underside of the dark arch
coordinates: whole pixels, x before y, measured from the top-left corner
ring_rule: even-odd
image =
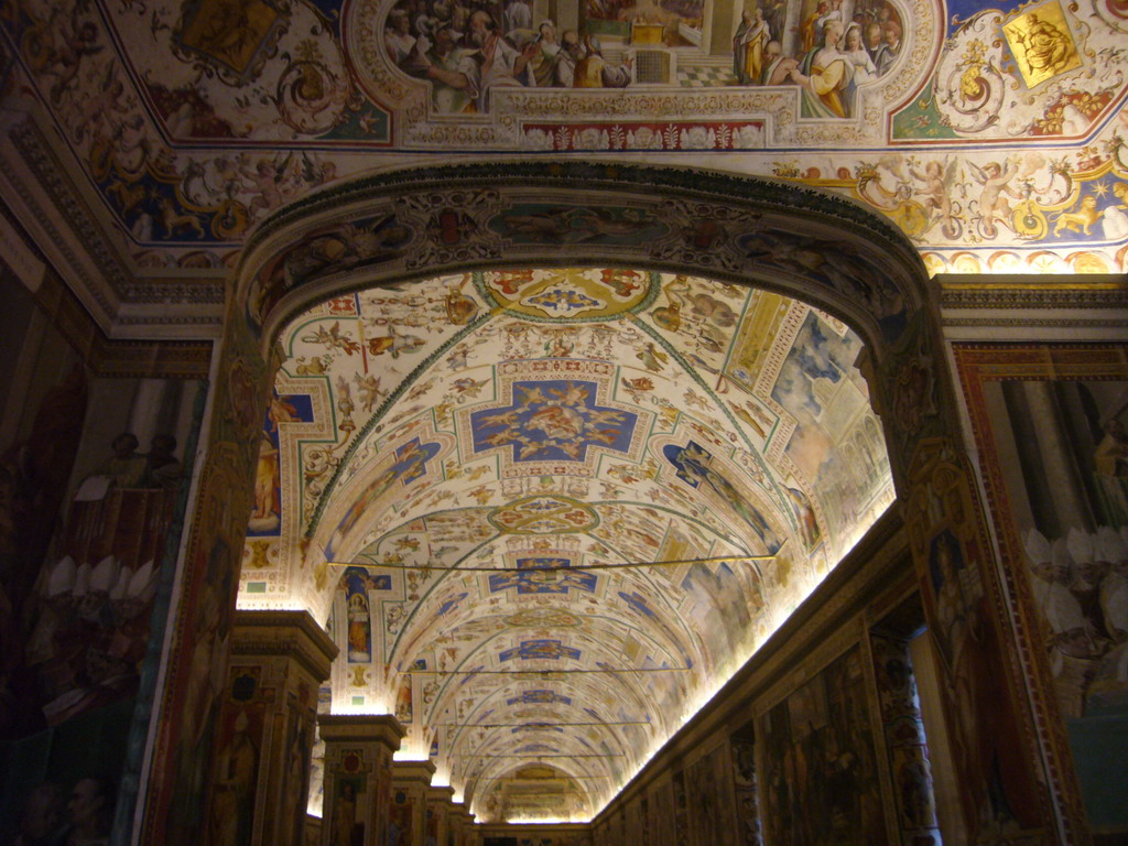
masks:
[[[633,270],[535,270],[475,273],[478,291],[497,308],[532,320],[587,323],[641,311],[660,275]]]

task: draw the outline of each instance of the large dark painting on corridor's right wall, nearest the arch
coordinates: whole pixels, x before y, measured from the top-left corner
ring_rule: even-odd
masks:
[[[889,843],[871,722],[857,645],[763,715],[765,843]]]

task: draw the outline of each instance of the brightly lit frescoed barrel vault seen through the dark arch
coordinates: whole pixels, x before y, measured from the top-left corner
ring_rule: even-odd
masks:
[[[333,710],[479,818],[598,811],[892,501],[858,337],[775,293],[464,273],[280,343],[240,607],[331,619]]]

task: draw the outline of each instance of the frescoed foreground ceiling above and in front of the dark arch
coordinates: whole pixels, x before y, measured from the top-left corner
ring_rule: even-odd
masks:
[[[1128,266],[1118,0],[14,0],[0,35],[6,196],[108,312],[214,315],[257,222],[435,153],[803,182],[934,273]]]

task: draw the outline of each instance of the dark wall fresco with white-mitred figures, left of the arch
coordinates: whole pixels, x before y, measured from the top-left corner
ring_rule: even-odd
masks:
[[[177,397],[166,406],[182,421],[176,435],[130,402],[99,406],[133,396],[141,380],[96,376],[50,324],[33,337],[36,306],[10,277],[0,297],[3,334],[37,352],[16,356],[26,405],[0,443],[0,747],[6,764],[35,774],[7,772],[0,843],[105,843],[155,597],[171,566],[185,475],[177,435],[187,434],[195,386],[149,382]],[[130,431],[104,434],[127,425],[146,447]]]

